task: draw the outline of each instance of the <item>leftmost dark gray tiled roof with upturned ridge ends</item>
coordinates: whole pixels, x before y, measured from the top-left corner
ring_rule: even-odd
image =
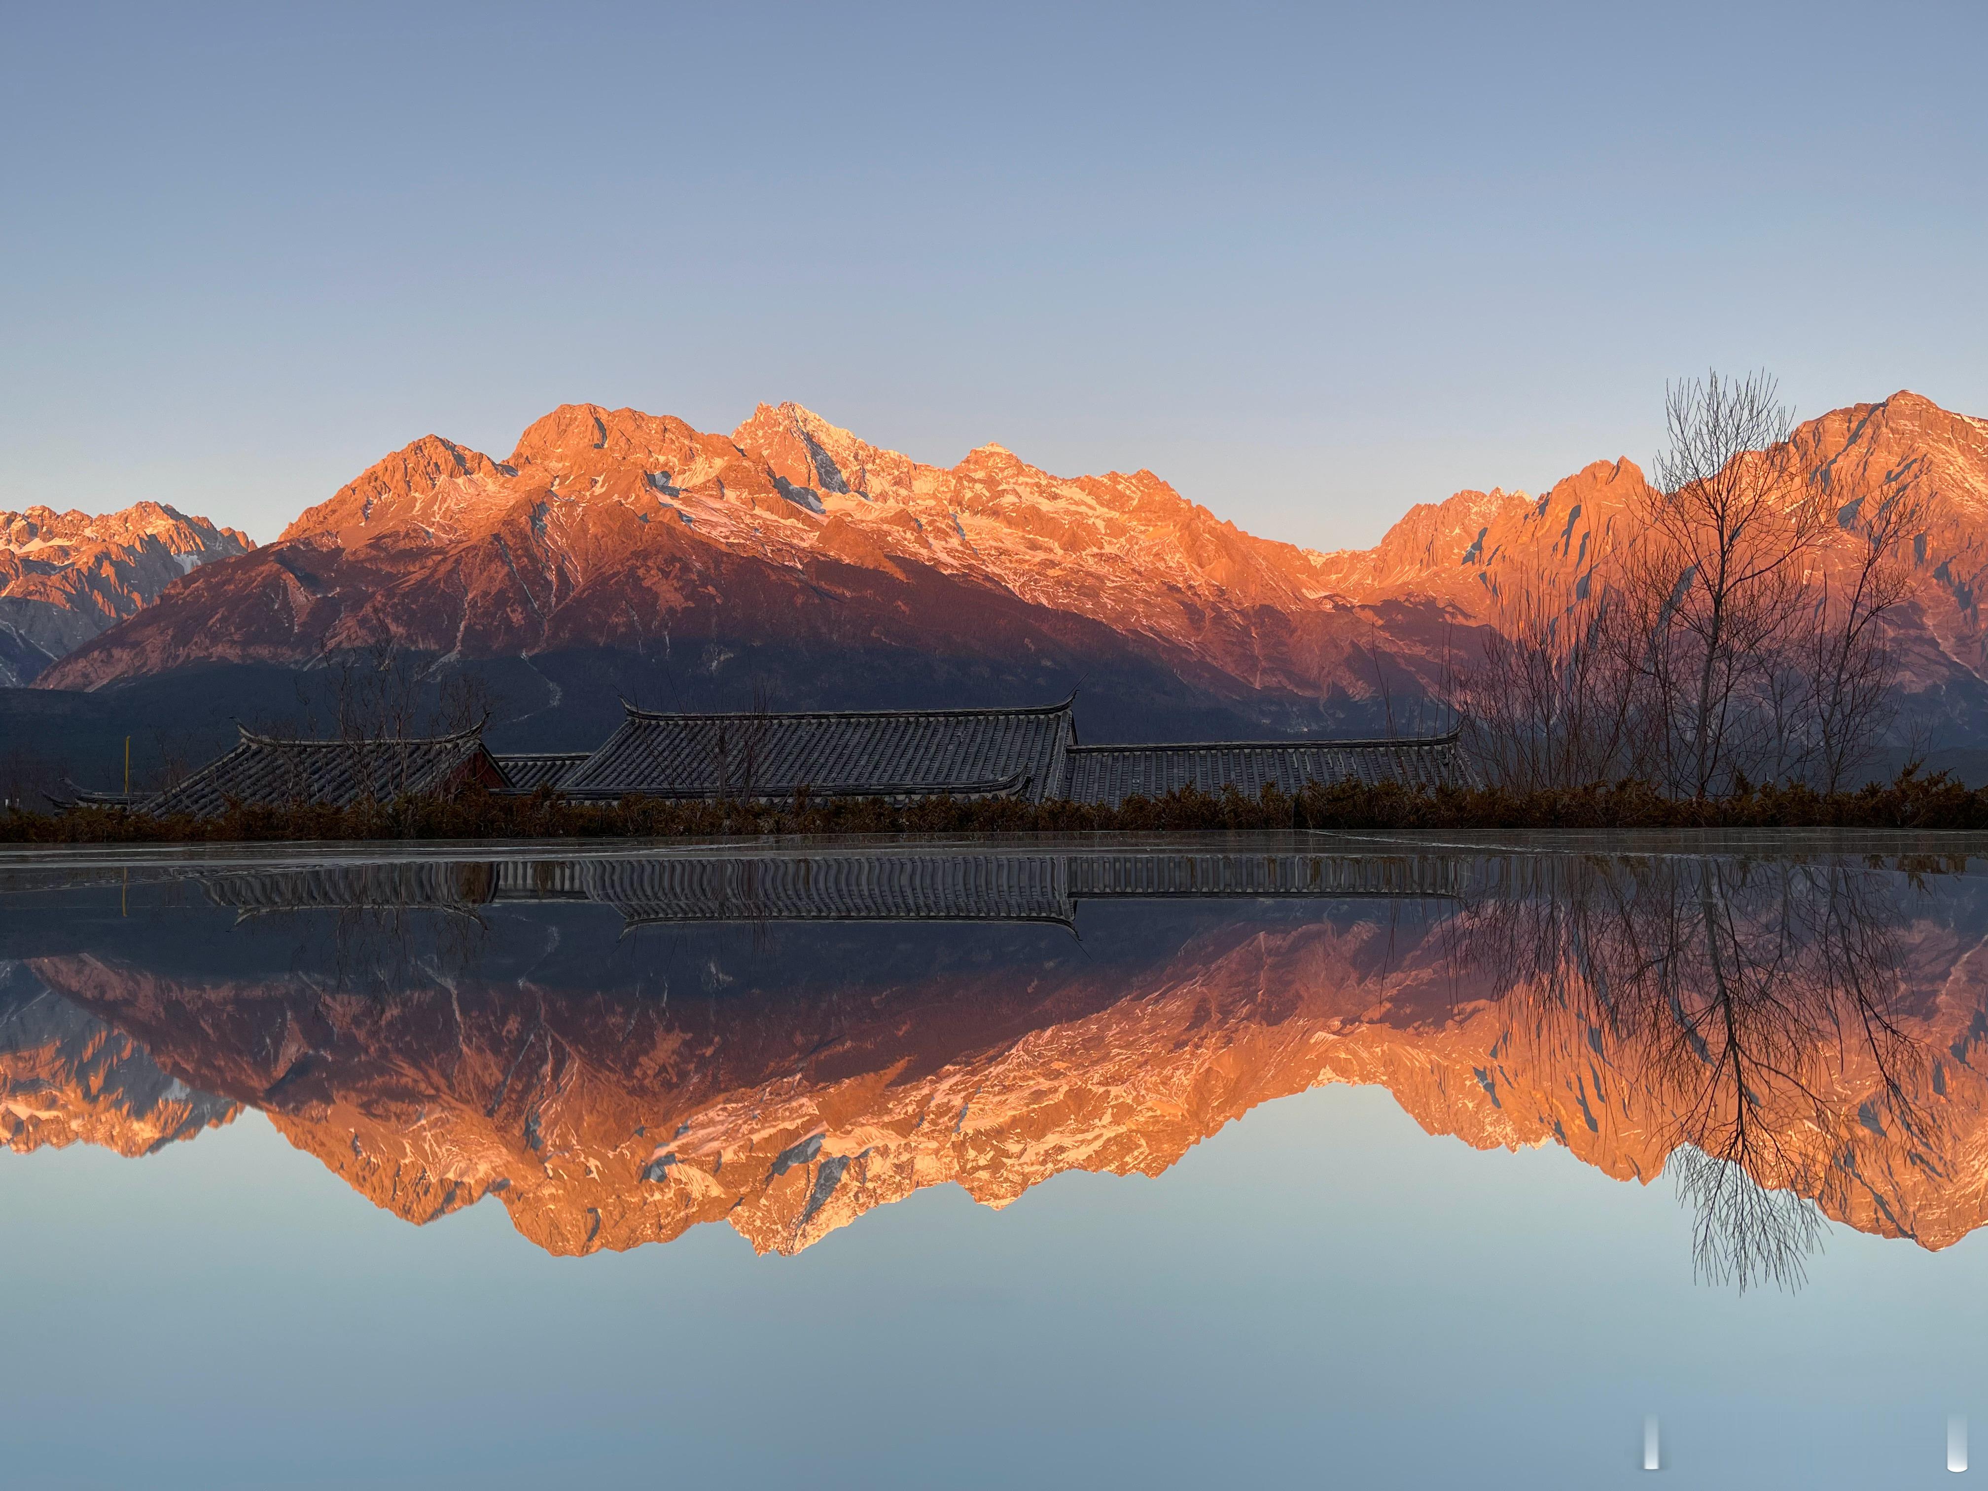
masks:
[[[141,807],[149,813],[209,817],[229,803],[330,803],[392,801],[402,793],[441,791],[465,773],[501,783],[483,730],[421,740],[344,742],[274,740],[241,732],[241,744],[209,761],[177,787]],[[481,769],[479,769],[481,763]]]

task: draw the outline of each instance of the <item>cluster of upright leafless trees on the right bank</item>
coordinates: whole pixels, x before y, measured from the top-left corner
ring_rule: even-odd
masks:
[[[1918,463],[1811,475],[1763,374],[1670,386],[1666,423],[1656,479],[1582,569],[1499,577],[1451,692],[1473,753],[1535,789],[1853,785],[1893,720]]]

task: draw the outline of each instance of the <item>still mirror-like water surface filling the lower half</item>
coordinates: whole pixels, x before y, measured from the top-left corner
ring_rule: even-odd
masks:
[[[1954,1485],[1984,853],[16,857],[0,1483]]]

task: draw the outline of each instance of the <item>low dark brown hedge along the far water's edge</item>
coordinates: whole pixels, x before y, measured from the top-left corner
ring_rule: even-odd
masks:
[[[533,797],[408,797],[352,807],[231,807],[215,817],[149,817],[85,807],[64,815],[0,815],[10,843],[187,843],[270,839],[672,839],[769,833],[1083,833],[1219,829],[1988,829],[1988,787],[1903,771],[1891,783],[1819,793],[1751,787],[1730,797],[1666,797],[1642,783],[1573,791],[1501,787],[1362,787],[1342,781],[1288,795],[1193,787],[1165,797],[1097,803],[954,801],[895,807],[879,799],[771,803],[565,803]]]

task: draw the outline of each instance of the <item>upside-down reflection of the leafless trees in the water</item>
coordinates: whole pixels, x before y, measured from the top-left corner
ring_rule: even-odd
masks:
[[[1511,869],[1457,922],[1455,954],[1509,990],[1511,1040],[1584,1044],[1662,1117],[1700,1276],[1799,1286],[1819,1209],[1841,1215],[1857,1185],[1859,1129],[1936,1153],[1891,875],[1716,857]]]

